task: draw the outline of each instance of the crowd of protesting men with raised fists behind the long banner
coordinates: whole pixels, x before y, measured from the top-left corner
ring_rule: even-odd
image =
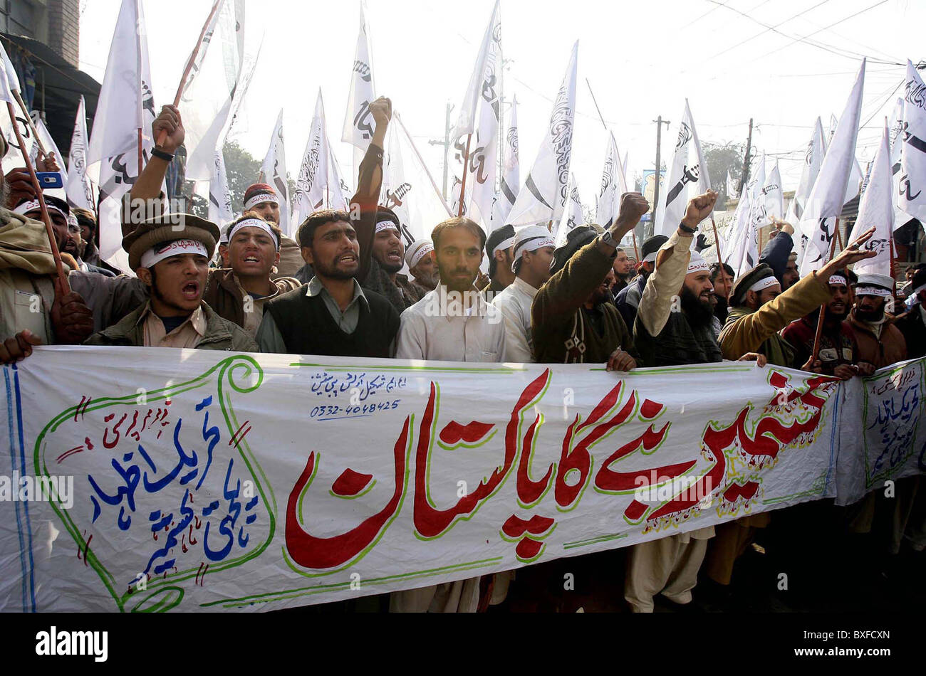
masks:
[[[853,264],[874,255],[859,246],[869,232],[802,278],[794,228],[776,222],[759,264],[736,277],[729,265],[708,264],[694,245],[714,210],[712,191],[688,204],[670,237],[642,242],[639,262],[619,246],[650,210],[639,193],[622,197],[609,229],[574,227],[559,247],[544,226],[499,227],[486,237],[465,217],[434,224],[431,240],[406,247],[398,217],[378,203],[391,104],[381,98],[370,111],[375,133],[351,211],[309,215],[295,240],[278,227],[286,205],[269,185],[256,184],[244,195],[243,215],[221,228],[194,215],[180,225],[160,212],[138,223],[125,217],[130,276],[101,260],[92,212],[46,196],[68,292],[31,181],[24,169],[10,172],[0,209],[0,362],[21,361],[36,345],[82,343],[600,363],[618,372],[732,360],[849,380],[926,354],[926,267],[908,268],[899,286],[894,277],[856,275]],[[170,158],[184,140],[178,109],[166,106],[152,131],[163,141],[131,201],[164,200]],[[56,170],[54,158],[40,168]],[[926,496],[918,485],[911,477],[897,482],[895,498],[871,493],[845,511],[846,529],[882,528],[888,555],[921,551]],[[722,598],[757,529],[777,518],[765,512],[629,547],[626,602],[648,612],[661,595],[685,606],[699,579]],[[514,578],[506,572],[398,592],[388,606],[475,611],[504,602]]]

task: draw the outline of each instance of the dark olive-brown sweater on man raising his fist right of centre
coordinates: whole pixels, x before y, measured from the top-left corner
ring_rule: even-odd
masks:
[[[618,348],[643,365],[627,325],[609,302],[601,313],[599,333],[582,306],[611,267],[613,257],[598,249],[597,241],[582,247],[562,270],[537,291],[531,306],[533,357],[537,363],[606,363]]]

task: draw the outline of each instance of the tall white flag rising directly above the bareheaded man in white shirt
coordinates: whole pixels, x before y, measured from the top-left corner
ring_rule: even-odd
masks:
[[[457,129],[454,129],[454,146],[450,153],[454,154],[451,166],[454,166],[454,184],[451,189],[451,210],[455,214],[468,216],[482,225],[487,232],[491,229],[492,203],[495,196],[495,174],[497,166],[495,156],[498,149],[499,111],[502,104],[499,97],[498,82],[499,68],[502,66],[502,32],[498,13],[498,3],[492,13],[492,18],[485,31],[488,42],[483,42],[483,49],[476,61],[476,67],[482,68],[481,77],[476,78],[476,72],[469,82],[469,89],[464,98],[463,107],[470,104],[473,92],[472,83],[478,83],[476,102],[475,129],[465,132],[459,131],[460,121],[457,120]],[[466,110],[461,110],[462,119]],[[471,135],[470,135],[471,134]],[[467,154],[469,148],[469,154]],[[466,165],[464,166],[464,161]],[[463,173],[466,177],[466,194],[464,195],[463,209],[460,210],[460,191],[463,189]]]

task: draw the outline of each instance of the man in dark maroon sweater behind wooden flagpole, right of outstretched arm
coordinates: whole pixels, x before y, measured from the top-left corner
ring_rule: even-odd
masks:
[[[810,357],[817,336],[820,308],[814,309],[805,317],[795,319],[782,330],[782,338],[795,349],[794,362],[791,364],[793,368],[833,375],[843,380],[858,374],[852,352],[852,329],[845,324],[851,301],[850,277],[855,276],[851,271],[846,274],[844,270],[837,270],[830,277],[830,301],[824,306],[820,351],[814,363],[810,363]]]

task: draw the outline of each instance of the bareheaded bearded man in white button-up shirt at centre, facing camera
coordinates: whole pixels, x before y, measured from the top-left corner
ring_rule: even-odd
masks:
[[[473,286],[482,264],[482,227],[458,217],[434,227],[441,283],[402,313],[396,359],[507,362],[505,324]],[[476,612],[480,577],[394,592],[391,612]]]

